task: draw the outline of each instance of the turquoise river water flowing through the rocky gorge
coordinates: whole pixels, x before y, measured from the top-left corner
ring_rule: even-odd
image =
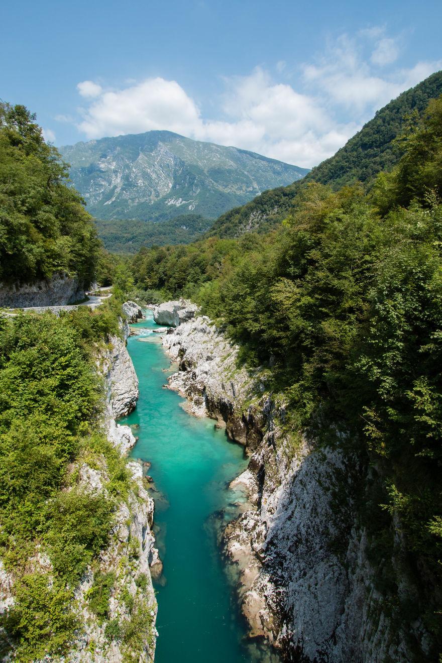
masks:
[[[275,660],[247,640],[221,564],[215,532],[245,501],[228,484],[245,467],[243,448],[209,418],[197,419],[184,398],[164,389],[170,359],[147,312],[127,348],[140,398],[121,423],[139,437],[133,457],[152,463],[155,530],[164,577],[158,583],[156,663],[262,663]],[[175,369],[176,370],[176,369]]]

